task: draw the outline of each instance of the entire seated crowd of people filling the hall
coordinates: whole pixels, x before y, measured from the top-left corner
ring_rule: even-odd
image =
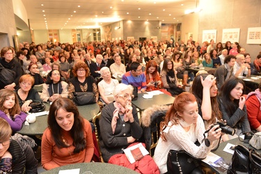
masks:
[[[245,84],[239,77],[261,73],[261,52],[257,55],[251,63],[250,54],[238,42],[228,41],[223,47],[221,42],[215,45],[211,40],[200,47],[192,37],[187,44],[173,39],[72,45],[48,41],[40,45],[24,42],[17,52],[13,47],[3,47],[1,66],[14,75],[6,81],[0,78],[0,147],[4,148],[0,152],[0,171],[15,171],[22,165],[28,171],[35,170],[37,162],[26,145],[20,146],[30,159],[19,156],[26,164],[13,160],[15,142],[10,139],[22,129],[33,102],[52,102],[48,128],[38,144],[43,168],[93,160],[93,128],[72,102],[75,92],[94,93],[101,106],[100,150],[105,162],[143,136],[131,103],[135,90],[166,90],[175,97],[161,124],[155,149],[155,166],[160,173],[168,173],[166,161],[171,149],[203,158],[216,148],[220,137],[228,141],[245,134],[248,139],[251,129],[261,131],[261,84],[253,87],[255,91],[244,93]],[[214,73],[194,74],[189,70],[201,67],[214,68]],[[42,85],[40,93],[33,88],[35,85]],[[186,87],[191,90],[186,92]],[[223,134],[218,125],[212,127],[218,120],[224,120],[236,134]],[[208,129],[209,143],[196,145]]]

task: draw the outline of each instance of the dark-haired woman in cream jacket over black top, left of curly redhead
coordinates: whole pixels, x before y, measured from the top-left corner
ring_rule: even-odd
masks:
[[[42,86],[42,93],[40,95],[43,102],[54,102],[60,97],[68,97],[68,84],[61,81],[61,74],[58,70],[49,72],[46,83]]]

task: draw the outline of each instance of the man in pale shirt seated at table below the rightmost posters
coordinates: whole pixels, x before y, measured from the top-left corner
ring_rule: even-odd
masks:
[[[251,68],[248,63],[245,62],[245,57],[243,54],[237,54],[236,56],[237,60],[233,68],[233,75],[235,77],[243,76],[244,74],[247,76],[250,76],[251,74]]]

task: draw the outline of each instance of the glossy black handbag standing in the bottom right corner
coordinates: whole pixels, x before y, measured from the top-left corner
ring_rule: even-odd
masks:
[[[249,150],[244,145],[239,144],[235,147],[228,174],[261,173],[261,157],[255,150]]]

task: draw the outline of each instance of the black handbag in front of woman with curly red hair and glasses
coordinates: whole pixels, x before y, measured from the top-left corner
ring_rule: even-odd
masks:
[[[96,96],[93,92],[74,92],[72,101],[78,106],[93,104],[96,102]]]

